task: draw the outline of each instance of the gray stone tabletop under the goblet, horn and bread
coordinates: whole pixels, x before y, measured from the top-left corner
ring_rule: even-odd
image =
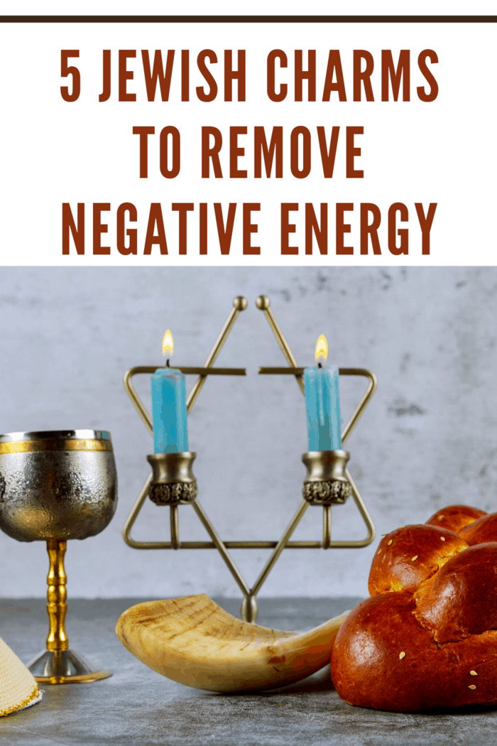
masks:
[[[128,653],[115,621],[143,599],[69,600],[69,645],[113,677],[91,684],[43,685],[40,703],[0,718],[6,744],[48,746],[389,746],[497,744],[497,709],[404,715],[352,707],[329,671],[250,695],[215,695],[170,681]],[[216,599],[238,615],[239,602]],[[305,630],[351,608],[356,598],[262,599],[258,622]],[[28,661],[47,633],[41,599],[0,601],[0,635]]]

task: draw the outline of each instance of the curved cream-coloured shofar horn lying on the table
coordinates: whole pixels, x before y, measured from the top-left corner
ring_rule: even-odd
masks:
[[[250,692],[285,686],[329,664],[347,613],[297,634],[247,624],[196,595],[131,606],[115,631],[162,676],[210,692]]]

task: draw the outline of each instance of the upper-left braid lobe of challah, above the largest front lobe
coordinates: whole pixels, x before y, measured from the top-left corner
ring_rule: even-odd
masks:
[[[411,591],[436,573],[468,545],[444,528],[420,524],[402,526],[379,543],[371,565],[370,595]]]

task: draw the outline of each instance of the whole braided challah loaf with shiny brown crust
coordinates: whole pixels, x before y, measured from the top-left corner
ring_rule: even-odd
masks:
[[[468,515],[440,513],[454,527]],[[487,536],[496,541],[481,543]],[[387,534],[370,593],[335,640],[342,699],[397,712],[497,704],[497,513],[477,515],[460,536],[432,524]]]

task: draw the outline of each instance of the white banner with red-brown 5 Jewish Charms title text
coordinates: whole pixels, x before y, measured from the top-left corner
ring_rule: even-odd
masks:
[[[494,22],[0,24],[0,263],[495,265]]]

